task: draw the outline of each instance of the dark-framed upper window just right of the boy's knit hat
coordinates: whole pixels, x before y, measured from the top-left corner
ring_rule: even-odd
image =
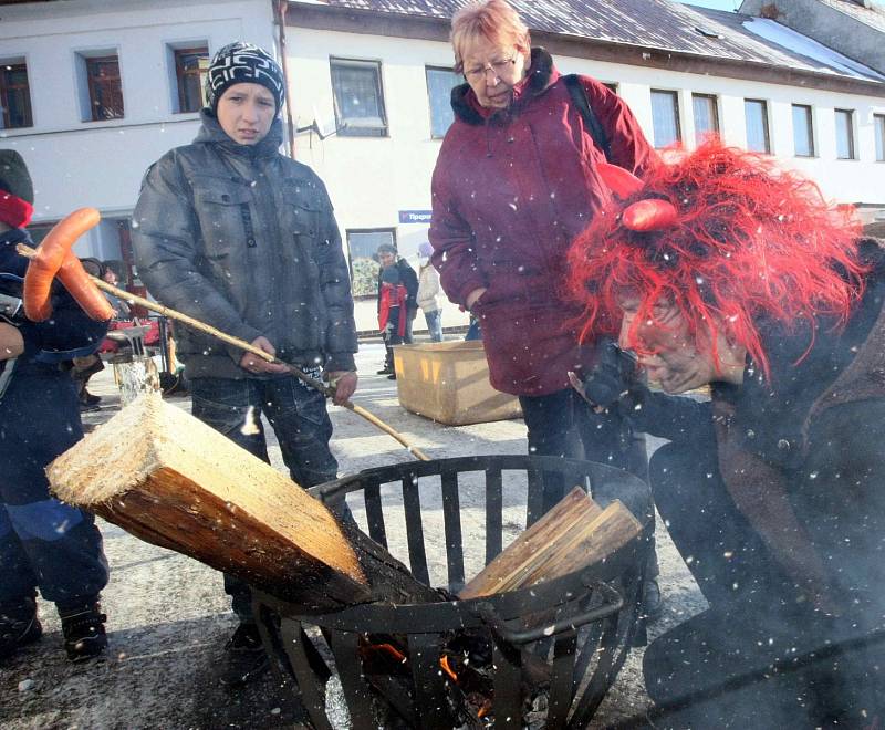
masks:
[[[387,114],[381,83],[381,63],[330,59],[332,95],[339,135],[386,137]]]

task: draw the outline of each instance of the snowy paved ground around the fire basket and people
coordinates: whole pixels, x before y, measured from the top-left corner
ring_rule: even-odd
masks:
[[[398,404],[396,383],[375,375],[382,359],[379,344],[362,345],[355,403],[395,425],[431,458],[524,452],[522,421],[446,427],[406,413]],[[91,389],[103,396],[102,409],[84,420],[101,424],[117,411],[118,394],[110,371],[92,383]],[[189,408],[187,398],[169,401]],[[351,411],[332,407],[331,415],[342,473],[409,459],[395,441]],[[283,469],[275,444],[271,458]],[[107,659],[70,665],[54,609],[41,605],[43,639],[0,666],[0,728],[291,728],[305,721],[293,688],[277,687],[269,674],[236,692],[219,682],[222,646],[235,625],[220,575],[114,525],[102,523],[102,530],[112,566],[103,602],[111,640]],[[388,538],[396,553],[393,532]],[[465,533],[467,538],[469,529]],[[649,628],[649,638],[705,605],[660,525],[657,539],[666,611]],[[642,724],[648,705],[642,651],[628,657],[592,728]]]

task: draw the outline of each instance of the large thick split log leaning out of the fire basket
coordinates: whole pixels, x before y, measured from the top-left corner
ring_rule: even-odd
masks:
[[[159,396],[123,408],[48,474],[65,502],[310,611],[440,599],[287,476]]]

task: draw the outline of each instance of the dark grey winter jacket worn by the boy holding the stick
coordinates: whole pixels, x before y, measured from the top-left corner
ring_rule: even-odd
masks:
[[[356,330],[347,262],[320,178],[279,153],[277,119],[239,145],[202,112],[192,144],[145,176],[133,216],[138,273],[163,304],[252,342],[282,359],[354,369]],[[242,378],[242,351],[176,330],[188,377]]]

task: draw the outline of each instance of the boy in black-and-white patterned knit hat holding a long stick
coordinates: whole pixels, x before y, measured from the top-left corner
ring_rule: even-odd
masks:
[[[214,56],[208,86],[194,143],[144,178],[133,219],[142,280],[158,302],[324,373],[342,404],[356,388],[347,263],[322,180],[279,152],[282,70],[267,51],[235,42]],[[323,394],[207,334],[177,327],[175,336],[197,418],[269,461],[263,414],[295,482],[336,477]],[[260,637],[249,587],[225,575],[225,590],[240,622],[228,642],[236,667],[237,654],[259,654]]]

